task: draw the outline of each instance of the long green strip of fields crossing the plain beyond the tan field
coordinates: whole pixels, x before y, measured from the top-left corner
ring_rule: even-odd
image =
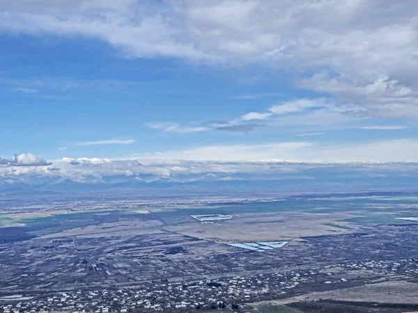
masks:
[[[49,234],[61,232],[76,227],[116,223],[120,220],[147,220],[160,218],[168,225],[185,223],[189,216],[195,214],[263,214],[280,212],[302,212],[308,214],[352,214],[353,218],[343,222],[361,225],[394,224],[406,225],[414,223],[409,220],[398,220],[399,217],[418,216],[418,197],[405,195],[396,197],[350,197],[350,198],[316,198],[292,199],[274,202],[253,202],[244,204],[204,205],[195,207],[160,207],[151,209],[152,214],[146,214],[146,209],[103,209],[100,211],[67,211],[40,212],[28,214],[0,215],[0,227],[23,225],[31,234]],[[145,214],[144,214],[145,213]],[[346,225],[324,223],[330,227],[350,230]]]

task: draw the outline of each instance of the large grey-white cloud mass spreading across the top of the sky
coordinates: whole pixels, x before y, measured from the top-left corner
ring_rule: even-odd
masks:
[[[130,58],[291,70],[299,86],[368,115],[418,118],[415,0],[116,2],[2,1],[0,31],[95,38]]]

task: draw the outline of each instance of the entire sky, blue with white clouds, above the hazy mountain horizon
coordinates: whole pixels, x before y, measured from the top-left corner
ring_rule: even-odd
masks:
[[[0,0],[0,161],[418,161],[417,13]]]

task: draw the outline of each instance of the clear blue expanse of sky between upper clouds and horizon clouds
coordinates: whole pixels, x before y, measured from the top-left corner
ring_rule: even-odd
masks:
[[[49,158],[61,154],[121,157],[202,144],[254,143],[261,134],[265,142],[287,141],[286,134],[265,129],[247,134],[191,131],[179,136],[147,125],[176,122],[197,129],[206,122],[267,109],[278,99],[309,95],[309,91],[295,90],[281,73],[274,74],[273,82],[243,83],[240,79],[251,77],[251,68],[125,59],[97,40],[3,34],[0,45],[7,47],[0,51],[1,131],[13,134],[5,138],[3,154],[33,151]],[[93,149],[77,145],[116,139],[137,143],[118,145],[118,152],[111,145]],[[63,152],[60,147],[68,149]]]

